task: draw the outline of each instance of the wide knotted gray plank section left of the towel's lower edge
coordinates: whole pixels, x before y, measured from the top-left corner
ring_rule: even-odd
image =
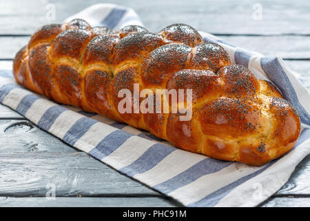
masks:
[[[91,181],[91,182],[90,182]],[[159,195],[27,120],[0,120],[0,195]]]

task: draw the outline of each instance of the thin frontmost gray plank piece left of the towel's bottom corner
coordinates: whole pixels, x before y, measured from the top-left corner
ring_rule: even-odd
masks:
[[[119,198],[0,198],[0,207],[172,207],[180,204],[160,197]]]

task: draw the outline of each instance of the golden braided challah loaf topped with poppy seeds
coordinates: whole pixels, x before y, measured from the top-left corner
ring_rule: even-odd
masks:
[[[81,19],[51,24],[32,35],[13,66],[19,84],[56,102],[219,160],[262,165],[291,150],[300,134],[298,113],[276,86],[256,79],[244,66],[231,65],[221,46],[205,43],[185,24],[157,34],[140,26],[119,32],[91,28]],[[124,88],[153,93],[130,98],[133,105],[123,112],[118,93]],[[187,94],[176,101],[156,89],[192,89],[191,108],[184,108]],[[158,103],[168,111],[155,111]],[[139,104],[152,111],[135,111]],[[172,112],[172,106],[178,111]],[[180,120],[188,113],[189,120]]]

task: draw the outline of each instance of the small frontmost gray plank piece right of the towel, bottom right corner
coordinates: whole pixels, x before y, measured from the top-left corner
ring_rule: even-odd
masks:
[[[261,207],[309,207],[310,198],[269,198]]]

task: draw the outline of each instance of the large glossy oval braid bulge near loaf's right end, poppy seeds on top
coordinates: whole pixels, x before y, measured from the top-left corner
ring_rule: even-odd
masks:
[[[199,122],[205,135],[233,139],[258,133],[264,119],[253,102],[220,97],[200,108]]]

